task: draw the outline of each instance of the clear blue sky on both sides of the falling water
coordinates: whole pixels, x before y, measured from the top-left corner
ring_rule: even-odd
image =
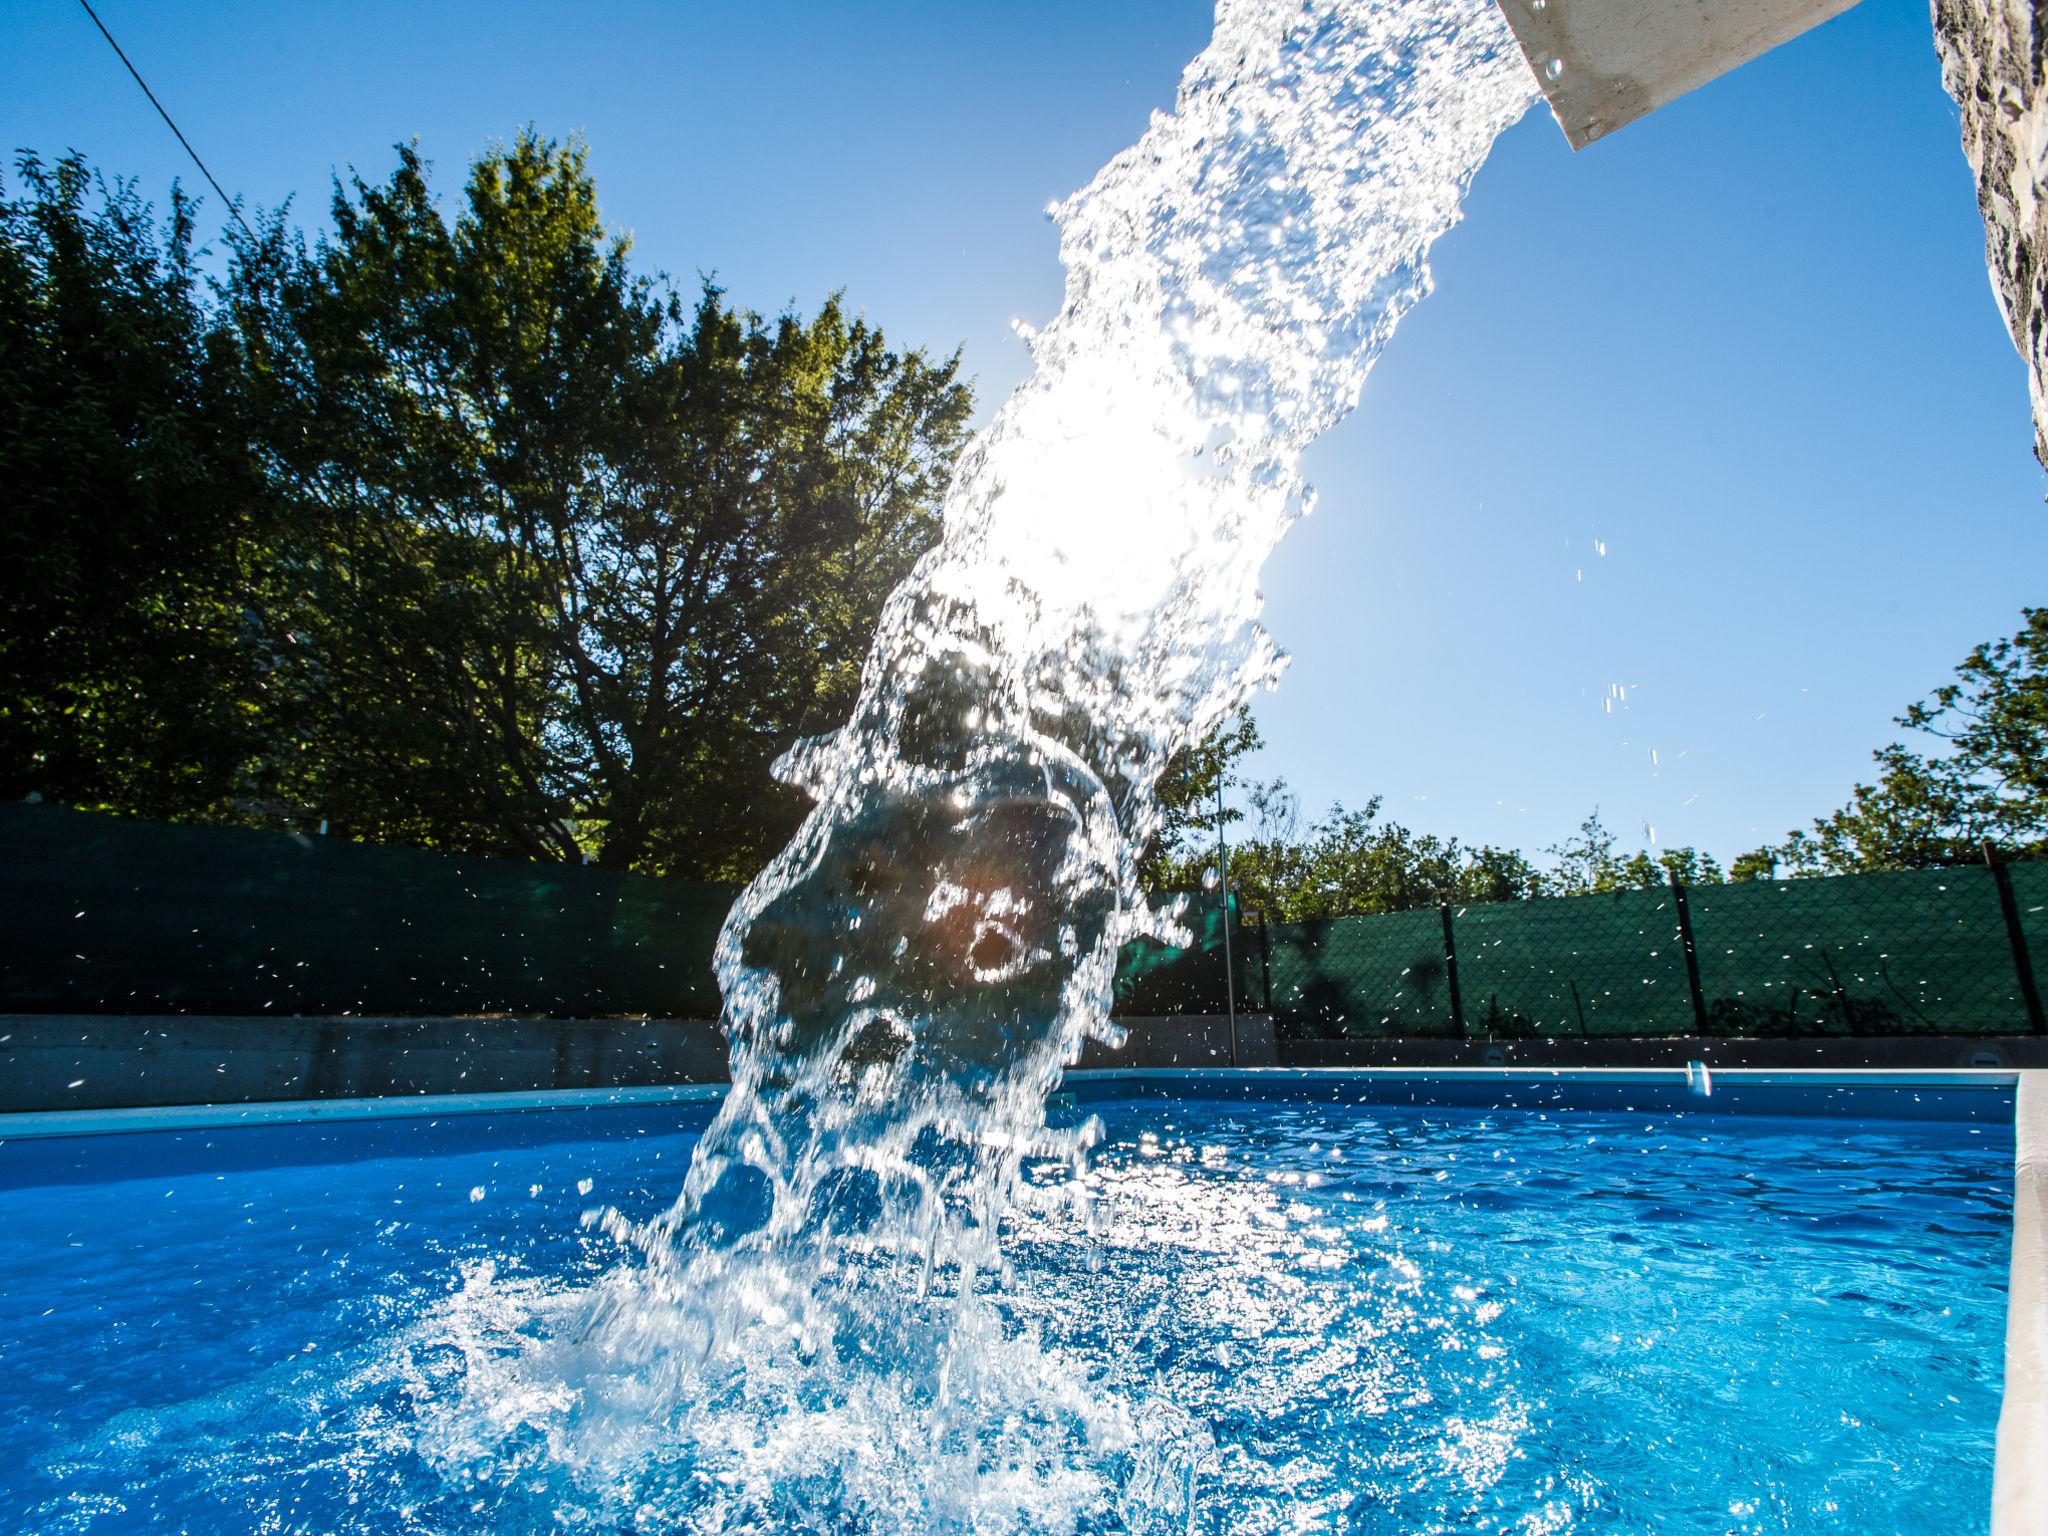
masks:
[[[256,205],[319,219],[408,137],[453,188],[522,123],[584,133],[645,268],[768,311],[844,287],[893,340],[965,348],[983,414],[1026,367],[1010,319],[1059,301],[1044,205],[1208,33],[1188,0],[96,4]],[[74,0],[0,6],[0,141],[199,186]],[[1839,805],[1894,713],[2048,602],[1923,0],[1577,156],[1534,111],[1268,567],[1294,666],[1255,772],[1311,809],[1384,793],[1534,850],[1597,805],[1729,856]]]

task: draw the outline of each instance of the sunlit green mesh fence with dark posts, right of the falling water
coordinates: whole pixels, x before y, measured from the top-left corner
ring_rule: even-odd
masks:
[[[2042,1028],[2048,864],[1270,924],[1264,948],[1294,1038],[2019,1034]]]

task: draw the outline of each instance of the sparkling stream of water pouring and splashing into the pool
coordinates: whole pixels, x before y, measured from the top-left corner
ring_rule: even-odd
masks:
[[[719,938],[733,1087],[682,1196],[596,1217],[633,1262],[573,1319],[461,1343],[446,1466],[547,1460],[684,1530],[1194,1520],[1200,1425],[1038,1348],[1004,1212],[1085,1200],[1092,1130],[1044,1096],[1114,1032],[1118,948],[1174,936],[1133,877],[1155,780],[1276,678],[1257,571],[1296,461],[1532,98],[1489,0],[1225,0],[1176,111],[1053,209],[1036,371],[852,721],[778,764],[815,809]]]

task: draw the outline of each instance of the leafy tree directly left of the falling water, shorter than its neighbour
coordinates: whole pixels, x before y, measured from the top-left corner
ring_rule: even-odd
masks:
[[[752,872],[801,805],[768,776],[846,715],[883,600],[938,537],[956,358],[831,299],[774,326],[707,287],[600,516],[549,541],[575,786],[604,862]]]

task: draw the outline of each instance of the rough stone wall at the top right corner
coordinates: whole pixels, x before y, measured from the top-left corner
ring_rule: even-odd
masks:
[[[2048,0],[1933,0],[1942,84],[1962,109],[1985,260],[2034,389],[2034,455],[2048,465]]]

